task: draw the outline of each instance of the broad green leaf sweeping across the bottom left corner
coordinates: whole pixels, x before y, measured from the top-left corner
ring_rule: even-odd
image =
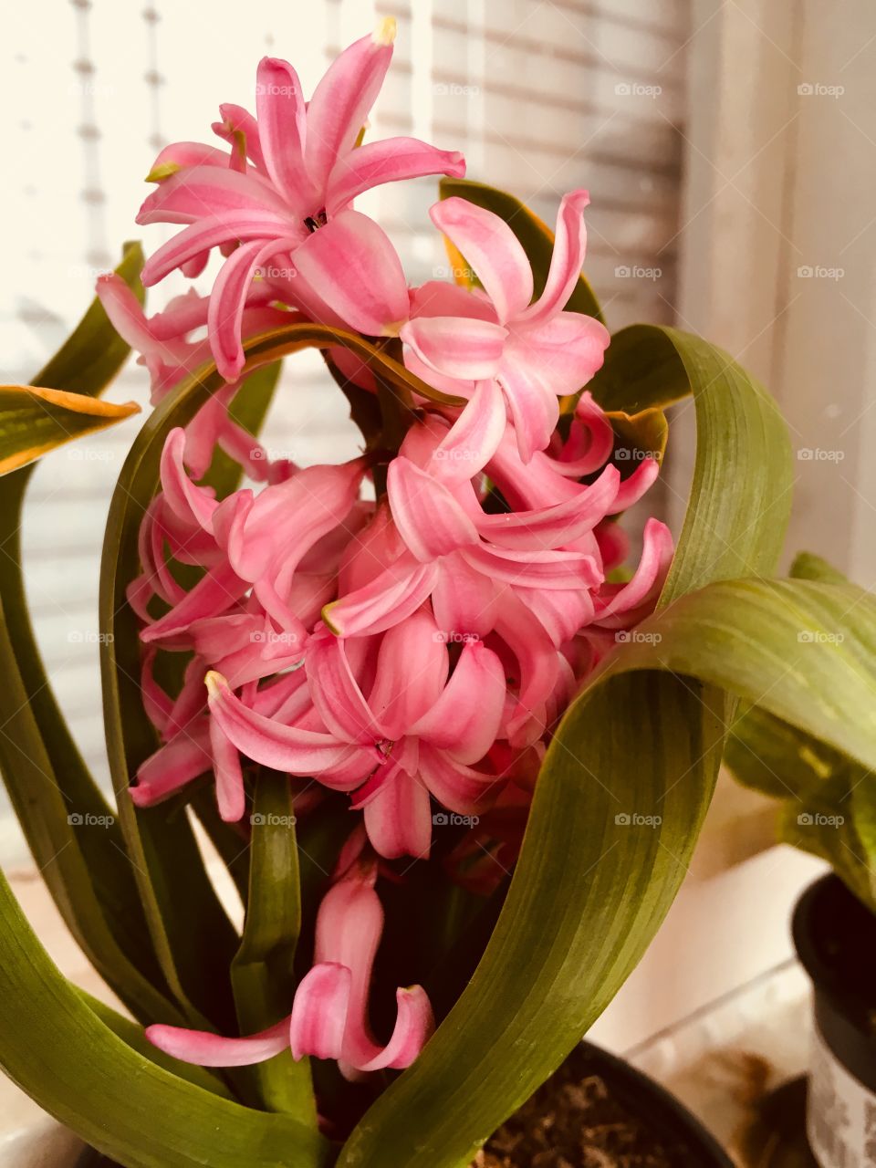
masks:
[[[317,1132],[195,1086],[119,1037],[51,964],[2,876],[0,952],[2,1069],[123,1168],[327,1168]]]

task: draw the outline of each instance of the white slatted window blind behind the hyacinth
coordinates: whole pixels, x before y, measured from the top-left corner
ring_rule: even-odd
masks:
[[[252,106],[264,54],[312,90],[329,57],[394,15],[394,68],[370,137],[415,134],[461,150],[471,178],[505,187],[552,223],[559,196],[591,192],[588,272],[612,328],[669,320],[675,300],[688,0],[287,0],[145,5],[32,0],[7,13],[2,374],[29,380],[137,228],[142,176],[168,140],[209,140],[220,102]],[[412,281],[446,274],[427,218],[433,180],[363,200]],[[171,288],[151,293],[152,311]],[[318,357],[288,362],[266,443],[304,463],[356,450]],[[114,399],[145,404],[128,366]],[[53,683],[88,760],[107,781],[97,663],[97,571],[112,485],[137,419],[39,467],[25,516],[27,582]]]

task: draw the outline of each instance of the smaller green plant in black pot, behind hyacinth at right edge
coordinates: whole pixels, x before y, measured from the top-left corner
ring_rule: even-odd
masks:
[[[843,621],[855,628],[849,655],[872,655],[869,595],[818,556],[801,554],[793,579],[837,585],[848,595]],[[847,632],[801,623],[795,665],[828,637],[842,651]],[[863,712],[864,718],[871,714]],[[806,1132],[818,1163],[864,1162],[876,1147],[876,860],[874,784],[869,767],[808,728],[757,708],[732,726],[726,759],[746,786],[779,800],[779,839],[827,860],[833,872],[800,897],[792,932],[814,988],[813,1057]]]

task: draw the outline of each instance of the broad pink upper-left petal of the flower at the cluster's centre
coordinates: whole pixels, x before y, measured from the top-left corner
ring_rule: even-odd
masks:
[[[387,495],[408,548],[423,563],[478,543],[478,533],[450,491],[410,459],[389,464]]]

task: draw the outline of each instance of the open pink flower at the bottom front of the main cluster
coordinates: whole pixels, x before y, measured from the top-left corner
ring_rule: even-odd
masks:
[[[221,682],[211,683],[213,719],[255,762],[320,781],[326,767],[313,753],[313,739],[325,743],[327,766],[336,765],[345,743],[352,760],[373,752],[371,774],[356,792],[355,806],[364,807],[374,848],[385,858],[425,856],[432,834],[430,795],[443,807],[471,815],[484,811],[501,785],[496,774],[474,764],[487,756],[500,731],[505,669],[491,648],[472,638],[449,676],[446,639],[427,607],[383,635],[374,662],[362,658],[361,645],[347,646],[327,631],[307,645],[314,712],[331,739],[256,712]],[[352,649],[369,667],[367,696]]]

